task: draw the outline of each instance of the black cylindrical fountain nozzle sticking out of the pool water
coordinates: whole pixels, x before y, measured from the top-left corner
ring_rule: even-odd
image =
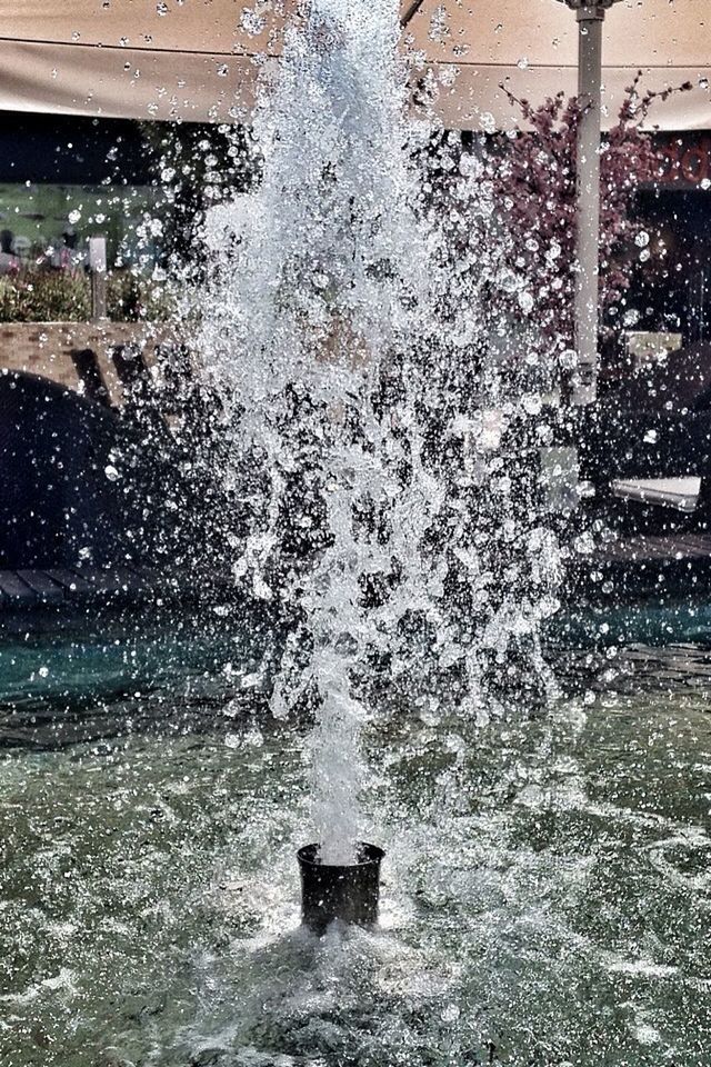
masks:
[[[356,845],[356,861],[322,864],[318,845],[297,852],[301,871],[301,917],[314,934],[324,934],[334,919],[349,926],[374,926],[380,899],[380,864],[385,855],[377,845]]]

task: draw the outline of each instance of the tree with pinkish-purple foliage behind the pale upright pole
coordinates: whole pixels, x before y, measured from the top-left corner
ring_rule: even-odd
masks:
[[[690,84],[662,93],[638,92],[640,74],[628,88],[615,126],[600,150],[600,308],[614,313],[631,282],[625,266],[630,248],[650,258],[649,238],[631,216],[634,193],[642,182],[661,171],[661,157],[641,122],[657,97],[683,91]],[[502,87],[504,88],[504,87]],[[504,90],[508,92],[508,90]],[[575,168],[578,124],[582,107],[563,92],[534,108],[527,100],[509,99],[529,130],[510,139],[493,183],[508,218],[513,250],[510,266],[533,283],[531,311],[543,337],[560,355],[573,345],[575,288]]]

